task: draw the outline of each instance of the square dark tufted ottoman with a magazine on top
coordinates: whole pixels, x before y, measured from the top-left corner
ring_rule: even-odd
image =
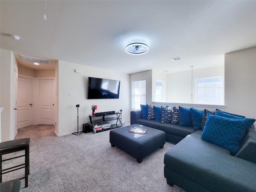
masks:
[[[129,129],[134,126],[147,129],[148,132],[145,135],[129,133]],[[111,130],[109,142],[112,147],[117,146],[134,156],[138,163],[141,163],[142,158],[152,153],[154,150],[164,147],[165,132],[147,126],[133,124]]]

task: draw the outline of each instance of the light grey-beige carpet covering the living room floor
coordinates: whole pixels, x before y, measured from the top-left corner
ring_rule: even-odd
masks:
[[[18,138],[30,138],[28,187],[21,192],[184,192],[170,187],[164,178],[166,142],[142,163],[117,147],[111,147],[109,130],[79,136],[57,137],[54,126],[18,129]],[[18,155],[18,154],[12,154]],[[22,158],[20,158],[22,160]],[[3,166],[8,167],[8,161]],[[24,176],[24,169],[3,175],[6,180]]]

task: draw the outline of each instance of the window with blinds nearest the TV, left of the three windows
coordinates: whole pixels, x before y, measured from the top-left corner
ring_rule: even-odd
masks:
[[[132,81],[132,109],[146,105],[146,79]]]

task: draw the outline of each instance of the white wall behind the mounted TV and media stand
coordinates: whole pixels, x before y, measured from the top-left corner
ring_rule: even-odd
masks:
[[[81,70],[82,73],[75,73]],[[78,129],[89,123],[92,114],[91,105],[97,105],[96,112],[119,111],[122,109],[122,122],[130,121],[130,75],[112,70],[105,70],[80,64],[58,62],[58,117],[56,133],[58,136],[77,131],[77,108],[80,104]],[[56,77],[57,77],[56,76]],[[119,99],[87,99],[88,76],[120,80]],[[75,96],[69,96],[74,92]]]

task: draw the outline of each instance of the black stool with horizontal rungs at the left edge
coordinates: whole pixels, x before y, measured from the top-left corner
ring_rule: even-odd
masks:
[[[6,141],[6,142],[1,142],[0,143],[0,183],[2,183],[2,175],[25,168],[25,176],[20,178],[24,179],[25,178],[25,187],[28,187],[28,175],[29,175],[29,143],[30,143],[30,138],[23,138],[23,139],[16,139],[16,140],[11,140],[11,141]],[[13,153],[13,152],[18,152],[25,150],[24,155],[20,155],[17,157],[12,157],[8,159],[2,160],[2,156],[5,154]],[[2,169],[2,162],[7,161],[7,160],[12,160],[15,158],[20,158],[25,156],[25,162],[16,166],[12,166],[10,168]]]

